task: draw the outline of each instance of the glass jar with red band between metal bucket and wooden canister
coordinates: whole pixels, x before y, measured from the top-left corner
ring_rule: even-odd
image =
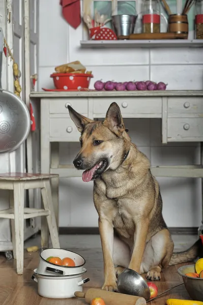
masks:
[[[143,1],[142,33],[160,33],[160,4],[158,0]]]

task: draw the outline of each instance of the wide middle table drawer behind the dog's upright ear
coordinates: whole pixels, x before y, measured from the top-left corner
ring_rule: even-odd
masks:
[[[97,98],[94,99],[94,117],[105,117],[111,103],[117,103],[123,117],[161,117],[162,99],[157,98]]]

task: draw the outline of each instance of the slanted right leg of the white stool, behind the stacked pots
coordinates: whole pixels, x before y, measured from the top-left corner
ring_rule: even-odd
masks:
[[[50,215],[48,215],[46,218],[47,218],[47,223],[48,223],[48,227],[49,227],[52,247],[60,248],[59,234],[58,234],[58,230],[57,230],[53,202],[52,202],[52,197],[51,197],[51,187],[50,187],[50,182],[48,179],[44,180],[44,188],[41,190],[41,192],[42,192],[42,199],[43,199],[43,203],[44,203],[44,209],[50,211]]]

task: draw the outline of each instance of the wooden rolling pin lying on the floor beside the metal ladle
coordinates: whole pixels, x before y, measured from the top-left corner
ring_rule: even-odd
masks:
[[[91,304],[95,297],[101,297],[106,305],[146,305],[146,299],[139,296],[110,292],[101,289],[90,288],[86,293],[76,291],[75,296],[85,298]]]

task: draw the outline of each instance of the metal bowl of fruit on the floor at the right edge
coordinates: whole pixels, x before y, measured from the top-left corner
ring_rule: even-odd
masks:
[[[195,265],[182,266],[178,273],[183,278],[185,288],[193,300],[203,301],[203,258]]]

